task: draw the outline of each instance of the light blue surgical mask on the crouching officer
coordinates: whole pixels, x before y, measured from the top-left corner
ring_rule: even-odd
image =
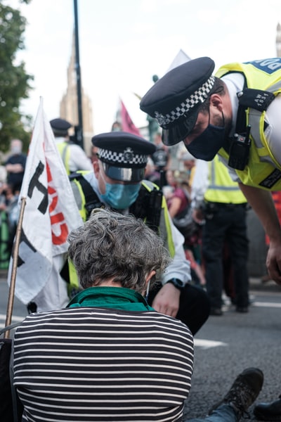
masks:
[[[100,198],[115,208],[115,210],[124,210],[133,204],[138,198],[138,192],[141,188],[141,184],[110,184],[107,183],[102,175],[102,179],[105,182],[105,193],[100,194]]]

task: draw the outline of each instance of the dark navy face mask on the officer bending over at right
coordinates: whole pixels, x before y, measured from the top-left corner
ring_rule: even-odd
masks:
[[[185,146],[195,158],[211,161],[225,144],[225,125],[223,117],[223,126],[214,126],[214,124],[209,123],[200,136],[197,136],[188,146]]]

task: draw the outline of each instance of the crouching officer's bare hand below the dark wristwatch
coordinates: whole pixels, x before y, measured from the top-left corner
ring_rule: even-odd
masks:
[[[161,314],[174,316],[178,313],[181,290],[172,283],[166,283],[155,296],[152,307]]]

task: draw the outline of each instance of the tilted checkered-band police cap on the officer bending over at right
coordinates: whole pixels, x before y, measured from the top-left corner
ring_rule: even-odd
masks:
[[[209,57],[190,60],[166,73],[143,96],[140,108],[155,117],[168,145],[183,141],[195,126],[198,109],[214,86],[215,63]]]

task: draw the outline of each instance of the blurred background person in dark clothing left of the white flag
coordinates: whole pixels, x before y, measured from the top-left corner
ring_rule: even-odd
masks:
[[[26,155],[22,153],[22,141],[12,139],[11,155],[6,160],[7,183],[13,186],[16,193],[20,192],[23,175],[25,174]]]

